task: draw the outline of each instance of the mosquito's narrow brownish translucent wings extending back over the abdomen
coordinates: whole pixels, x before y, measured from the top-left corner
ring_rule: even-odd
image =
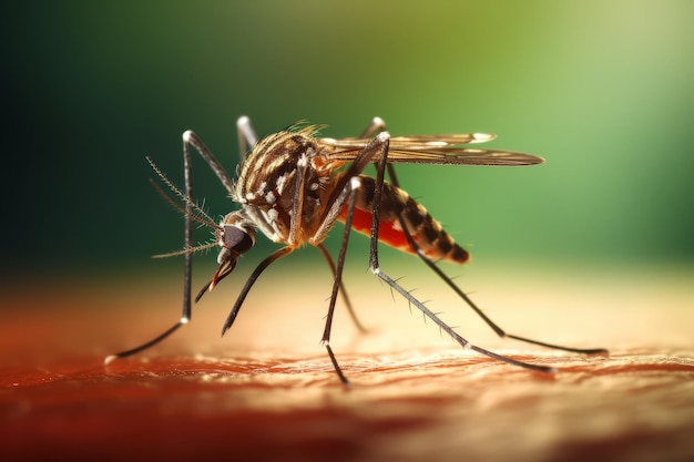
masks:
[[[442,165],[535,165],[544,162],[532,154],[501,150],[467,147],[473,143],[484,143],[496,136],[487,133],[461,133],[451,135],[415,135],[390,138],[388,161],[409,164]],[[330,146],[326,158],[351,161],[369,142],[368,138],[320,138]]]

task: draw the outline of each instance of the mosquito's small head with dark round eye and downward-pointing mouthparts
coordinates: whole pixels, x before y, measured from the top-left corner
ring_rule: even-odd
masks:
[[[241,211],[226,215],[215,232],[220,254],[220,266],[210,281],[208,290],[214,289],[220,280],[236,267],[236,260],[255,245],[255,229]]]

